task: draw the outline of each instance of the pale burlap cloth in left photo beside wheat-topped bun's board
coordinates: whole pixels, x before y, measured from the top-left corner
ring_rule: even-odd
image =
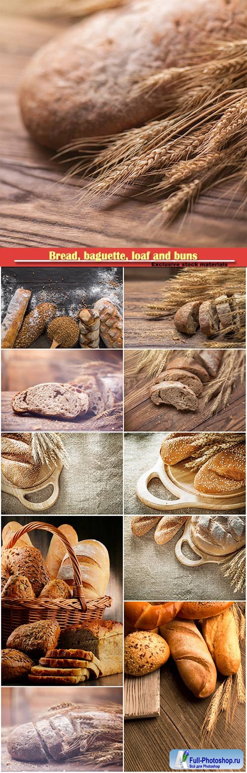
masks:
[[[68,470],[62,469],[57,502],[42,514],[122,514],[122,434],[68,432],[62,440],[70,458]],[[52,486],[48,486],[32,494],[32,502],[45,501],[51,493]],[[2,514],[26,513],[32,511],[2,492]]]

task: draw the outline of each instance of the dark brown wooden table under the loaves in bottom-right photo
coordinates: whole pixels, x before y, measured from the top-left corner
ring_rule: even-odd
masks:
[[[160,716],[125,722],[125,771],[168,771],[172,749],[199,748],[210,697],[199,700],[193,696],[172,658],[163,666],[160,676]],[[245,751],[245,706],[237,707],[230,727],[225,727],[225,712],[221,714],[210,747]]]

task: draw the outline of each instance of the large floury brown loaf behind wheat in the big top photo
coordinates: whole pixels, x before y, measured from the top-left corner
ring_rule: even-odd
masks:
[[[25,126],[57,149],[150,121],[164,112],[164,87],[144,98],[136,83],[177,67],[178,56],[179,66],[201,62],[209,39],[223,41],[234,32],[244,38],[244,14],[245,0],[135,0],[95,13],[42,46],[28,64],[20,90]]]

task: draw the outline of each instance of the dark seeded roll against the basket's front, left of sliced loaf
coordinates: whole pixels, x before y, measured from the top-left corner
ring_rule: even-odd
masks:
[[[60,627],[56,620],[38,620],[15,628],[8,636],[7,647],[19,649],[38,660],[48,649],[57,645],[59,634]]]

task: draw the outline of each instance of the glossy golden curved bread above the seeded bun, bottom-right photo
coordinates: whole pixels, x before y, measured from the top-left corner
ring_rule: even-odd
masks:
[[[125,624],[129,628],[152,631],[169,622],[179,609],[182,601],[165,601],[164,604],[149,604],[149,601],[125,601]]]

